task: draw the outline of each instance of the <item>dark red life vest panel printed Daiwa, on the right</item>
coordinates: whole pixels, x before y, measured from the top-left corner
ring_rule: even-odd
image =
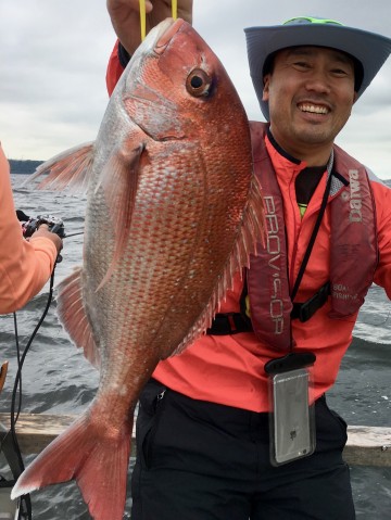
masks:
[[[348,181],[331,203],[331,318],[358,310],[378,264],[376,204],[365,167],[335,147],[336,169]]]

